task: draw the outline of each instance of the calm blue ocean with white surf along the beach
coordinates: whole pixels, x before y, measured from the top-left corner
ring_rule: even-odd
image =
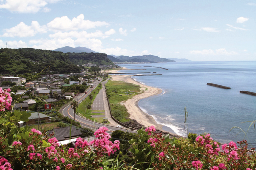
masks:
[[[146,69],[119,72],[163,74],[132,76],[140,83],[163,90],[162,94],[142,99],[138,103],[139,107],[157,123],[170,127],[176,134],[186,137],[186,107],[190,133],[210,133],[213,139],[221,143],[242,141],[245,137],[247,142],[256,146],[254,124],[248,130],[251,121],[256,121],[256,96],[239,92],[256,92],[256,61],[171,62],[119,66]],[[144,66],[157,66],[168,70]],[[206,85],[207,83],[228,86],[231,89],[213,87]],[[230,130],[235,126],[239,128]]]

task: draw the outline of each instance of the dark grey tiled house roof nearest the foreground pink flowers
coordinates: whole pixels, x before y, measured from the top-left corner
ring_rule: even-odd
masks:
[[[55,137],[58,141],[69,140],[69,131],[70,127],[61,127],[48,131],[48,136],[54,133],[53,137]],[[71,139],[81,137],[83,134],[81,133],[81,129],[77,129],[75,126],[71,126]]]

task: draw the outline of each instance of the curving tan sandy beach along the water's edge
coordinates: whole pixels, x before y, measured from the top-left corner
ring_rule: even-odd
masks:
[[[124,70],[127,68],[124,68]],[[119,70],[111,70],[106,72],[116,73]],[[156,123],[154,118],[144,111],[142,111],[139,106],[138,102],[140,99],[144,99],[150,97],[152,95],[161,94],[162,90],[159,88],[151,87],[148,85],[141,84],[134,79],[131,78],[131,75],[109,75],[113,81],[125,81],[128,83],[132,83],[135,85],[140,85],[141,90],[144,90],[144,93],[134,96],[132,99],[127,100],[124,105],[128,109],[131,119],[137,120],[139,123],[145,125],[146,127],[154,125],[157,129],[163,130],[163,125]],[[165,131],[165,130],[163,130]],[[169,132],[171,133],[171,132]],[[171,133],[176,135],[175,133]]]

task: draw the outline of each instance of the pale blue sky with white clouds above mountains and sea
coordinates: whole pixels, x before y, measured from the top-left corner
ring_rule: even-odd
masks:
[[[0,0],[0,47],[256,60],[256,0]]]

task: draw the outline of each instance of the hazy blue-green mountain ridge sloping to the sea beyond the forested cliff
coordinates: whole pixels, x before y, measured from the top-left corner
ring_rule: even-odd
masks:
[[[143,55],[143,56],[132,56],[132,57],[121,55],[117,57],[117,59],[128,61],[128,62],[131,59],[149,60],[150,62],[175,62],[174,60],[168,60],[166,58],[160,58],[154,55]]]

